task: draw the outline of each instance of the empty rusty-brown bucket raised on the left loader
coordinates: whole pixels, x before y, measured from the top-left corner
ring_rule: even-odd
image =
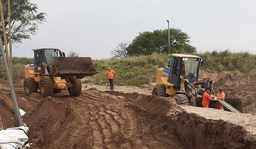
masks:
[[[96,73],[91,57],[52,57],[50,74],[52,77],[76,77],[93,76]]]

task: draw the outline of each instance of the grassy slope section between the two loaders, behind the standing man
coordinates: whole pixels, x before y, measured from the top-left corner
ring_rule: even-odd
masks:
[[[107,68],[111,67],[116,72],[115,85],[141,86],[155,81],[156,70],[160,65],[167,65],[168,56],[152,54],[149,56],[128,57],[121,60],[94,60],[96,70],[100,73],[93,76],[93,83],[106,85]]]

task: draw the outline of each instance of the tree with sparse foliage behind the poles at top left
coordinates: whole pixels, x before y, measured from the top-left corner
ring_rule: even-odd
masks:
[[[2,0],[5,30],[7,42],[8,34],[8,9],[7,0]],[[25,39],[31,39],[31,35],[36,35],[38,27],[46,21],[46,13],[38,12],[37,4],[30,0],[11,0],[11,39],[12,43],[20,44]],[[2,35],[2,24],[0,25]]]

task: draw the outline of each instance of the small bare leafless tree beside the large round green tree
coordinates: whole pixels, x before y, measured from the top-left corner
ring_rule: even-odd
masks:
[[[111,50],[111,59],[122,59],[127,57],[127,47],[129,46],[129,42],[121,42],[116,45],[116,47]]]

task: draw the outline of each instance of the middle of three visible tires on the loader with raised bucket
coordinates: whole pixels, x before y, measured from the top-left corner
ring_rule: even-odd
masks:
[[[53,95],[53,82],[50,76],[42,76],[39,83],[40,93],[45,96]]]

